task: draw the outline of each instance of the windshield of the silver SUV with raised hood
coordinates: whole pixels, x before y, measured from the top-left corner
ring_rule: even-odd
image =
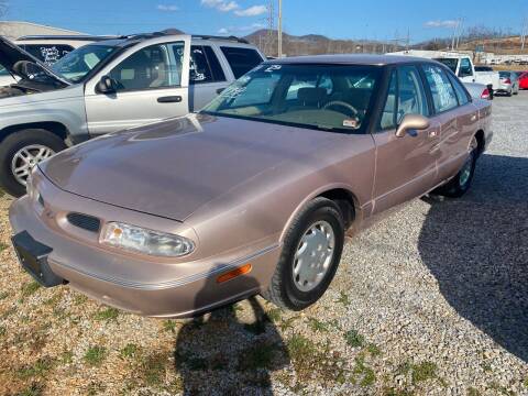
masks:
[[[109,45],[85,45],[65,55],[52,69],[73,82],[80,82],[91,69],[117,50],[118,47]]]

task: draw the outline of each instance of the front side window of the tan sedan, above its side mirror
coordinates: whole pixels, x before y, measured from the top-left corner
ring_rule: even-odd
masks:
[[[416,66],[393,70],[380,127],[394,129],[406,114],[429,116],[427,97]]]

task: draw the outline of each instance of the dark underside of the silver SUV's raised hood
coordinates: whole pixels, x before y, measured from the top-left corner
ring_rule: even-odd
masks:
[[[16,46],[15,44],[11,43],[6,37],[0,36],[0,65],[3,66],[9,73],[11,73],[11,75],[16,75],[23,80],[31,80],[31,76],[25,76],[19,73],[14,67],[14,65],[20,61],[31,62],[33,64],[38,65],[42,72],[46,74],[47,77],[50,77],[59,87],[64,88],[70,85],[69,81],[67,81],[59,75],[55,74],[41,61],[32,56],[31,54],[26,53],[24,50]]]

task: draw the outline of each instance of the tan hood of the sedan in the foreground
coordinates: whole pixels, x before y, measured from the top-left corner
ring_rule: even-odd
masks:
[[[190,114],[95,139],[40,167],[68,193],[184,221],[286,161],[314,167],[309,154],[331,134]]]

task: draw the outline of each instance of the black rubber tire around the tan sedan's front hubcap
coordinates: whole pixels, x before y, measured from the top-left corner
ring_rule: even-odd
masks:
[[[334,233],[333,256],[319,284],[309,292],[300,290],[294,282],[295,253],[305,232],[316,222],[326,221]],[[336,202],[316,198],[296,216],[284,240],[284,248],[268,288],[262,296],[278,307],[301,310],[316,302],[336,275],[344,244],[343,216]]]

